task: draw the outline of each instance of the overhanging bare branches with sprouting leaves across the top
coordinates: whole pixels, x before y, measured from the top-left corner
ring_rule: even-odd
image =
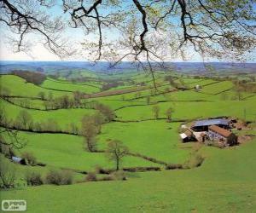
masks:
[[[62,32],[65,26],[82,28],[89,39],[76,49],[88,50],[90,60],[113,61],[113,66],[122,60],[136,61],[154,80],[152,61],[186,59],[191,49],[203,59],[247,60],[247,53],[255,48],[254,1],[132,0],[124,5],[123,1],[63,0],[63,19],[47,14],[57,3],[0,1],[0,23],[13,32],[11,44],[16,51],[29,51],[27,38],[37,33],[56,55],[72,55],[74,45],[68,45]],[[117,39],[109,31],[117,32]],[[92,33],[96,41],[90,39]]]

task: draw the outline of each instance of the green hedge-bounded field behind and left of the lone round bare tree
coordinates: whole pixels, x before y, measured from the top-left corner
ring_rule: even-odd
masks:
[[[104,153],[90,153],[86,151],[84,139],[81,136],[63,134],[34,134],[20,133],[26,139],[26,147],[20,152],[30,152],[39,162],[55,168],[73,170],[94,170],[96,165],[103,168],[114,168]],[[126,157],[122,166],[152,166],[154,163],[143,158]]]

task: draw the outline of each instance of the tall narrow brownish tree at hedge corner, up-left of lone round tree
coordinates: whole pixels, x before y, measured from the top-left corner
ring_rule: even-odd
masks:
[[[84,118],[82,118],[81,133],[84,136],[86,147],[90,152],[96,151],[97,132],[98,129],[96,127],[94,119],[90,116],[84,116]]]

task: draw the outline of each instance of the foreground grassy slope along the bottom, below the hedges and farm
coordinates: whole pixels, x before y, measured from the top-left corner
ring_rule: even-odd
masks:
[[[140,173],[128,181],[29,187],[2,196],[26,199],[28,212],[253,212],[256,174],[250,165],[256,160],[255,144],[231,150],[207,147],[206,163],[195,170]]]

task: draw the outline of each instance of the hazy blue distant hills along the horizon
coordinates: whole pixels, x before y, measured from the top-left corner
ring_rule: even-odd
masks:
[[[256,63],[228,62],[166,62],[165,66],[177,72],[207,73],[207,72],[256,72]],[[35,72],[59,72],[63,70],[91,70],[95,72],[119,72],[136,69],[136,64],[123,62],[118,66],[109,67],[108,62],[91,63],[88,61],[6,61],[0,60],[0,72],[13,70],[29,70]]]

